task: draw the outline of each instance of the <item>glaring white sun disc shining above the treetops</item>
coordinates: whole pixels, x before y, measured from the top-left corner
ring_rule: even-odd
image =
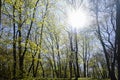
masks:
[[[71,9],[67,13],[67,22],[73,28],[83,28],[89,23],[88,13],[83,9]]]

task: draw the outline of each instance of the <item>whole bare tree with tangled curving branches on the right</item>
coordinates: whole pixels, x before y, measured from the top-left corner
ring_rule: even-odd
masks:
[[[109,71],[109,77],[111,78],[111,80],[117,80],[116,76],[115,76],[116,75],[115,74],[115,60],[116,60],[115,40],[111,39],[111,37],[114,37],[114,35],[112,35],[112,34],[115,33],[115,29],[114,29],[115,24],[113,22],[114,15],[111,15],[108,17],[104,16],[105,21],[100,22],[99,16],[103,15],[102,13],[100,14],[100,11],[103,11],[104,9],[106,9],[106,7],[104,7],[103,9],[100,10],[100,6],[98,6],[98,3],[101,3],[101,5],[103,6],[103,4],[102,4],[103,2],[102,1],[100,1],[100,2],[94,1],[94,3],[95,3],[94,9],[95,9],[95,15],[96,15],[98,39],[100,40],[101,45],[103,47],[103,51],[104,51],[106,62],[107,62],[107,69]],[[109,6],[109,3],[107,5]],[[105,6],[105,4],[104,4],[104,6]],[[112,5],[112,6],[114,6],[114,5]],[[112,9],[110,7],[110,10],[112,10],[111,13],[113,14],[114,9]],[[111,13],[107,13],[107,14],[111,14]],[[109,20],[111,20],[111,22],[109,22]],[[108,23],[112,27],[108,26]],[[105,31],[103,31],[103,30],[105,30]],[[112,51],[112,53],[109,52],[109,49]],[[110,55],[112,55],[112,57],[110,57]]]

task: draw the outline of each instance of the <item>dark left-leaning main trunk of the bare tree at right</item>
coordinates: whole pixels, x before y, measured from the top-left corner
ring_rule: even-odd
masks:
[[[100,22],[99,21],[99,16],[100,16],[99,11],[100,11],[100,9],[99,9],[98,3],[99,3],[99,1],[95,1],[95,15],[96,15],[98,38],[100,40],[100,43],[103,47],[103,51],[104,51],[104,54],[105,54],[105,58],[106,58],[106,62],[107,62],[107,69],[109,71],[109,77],[111,78],[111,80],[117,80],[116,76],[115,76],[115,57],[113,57],[112,62],[110,62],[109,52],[108,52],[108,49],[107,49],[107,46],[106,46],[107,43],[105,43],[105,41],[104,41],[105,37],[102,35],[102,30],[101,30],[101,28],[104,27],[104,26],[101,26],[100,23],[99,23]],[[100,3],[102,3],[102,2],[100,2]],[[109,35],[109,33],[107,33],[107,34]],[[110,35],[108,36],[108,40],[106,40],[106,41],[108,41],[108,43],[110,43],[111,46],[114,45],[114,43],[111,44],[111,41],[109,40],[109,38],[110,38]],[[113,53],[113,56],[115,56],[115,53]]]

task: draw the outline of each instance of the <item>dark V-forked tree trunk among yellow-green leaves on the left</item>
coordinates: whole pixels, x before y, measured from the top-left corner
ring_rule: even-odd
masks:
[[[21,1],[20,1],[21,2]],[[21,17],[21,6],[19,7],[20,11],[19,11],[19,24],[18,24],[18,32],[19,32],[19,37],[18,37],[18,48],[19,48],[19,69],[20,69],[20,76],[21,78],[23,78],[23,73],[24,73],[24,56],[25,56],[25,53],[26,53],[26,50],[27,50],[27,44],[28,44],[28,39],[29,39],[29,36],[30,36],[30,32],[31,32],[31,29],[33,27],[33,21],[34,21],[34,18],[35,18],[35,12],[36,12],[36,7],[37,7],[37,4],[38,4],[39,0],[36,1],[35,3],[35,7],[33,9],[33,14],[32,14],[32,20],[31,20],[31,23],[30,23],[30,27],[29,27],[29,30],[28,30],[28,33],[27,33],[27,37],[26,37],[26,41],[25,41],[25,49],[22,53],[22,47],[21,47],[21,40],[22,40],[22,36],[21,36],[21,27],[22,27],[22,17]]]

